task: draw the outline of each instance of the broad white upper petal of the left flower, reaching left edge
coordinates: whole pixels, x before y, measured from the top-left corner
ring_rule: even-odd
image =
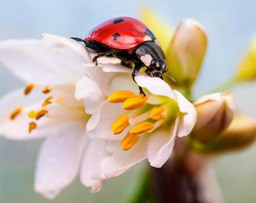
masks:
[[[26,39],[0,42],[0,62],[24,82],[50,85],[81,78],[84,59],[67,46]]]

